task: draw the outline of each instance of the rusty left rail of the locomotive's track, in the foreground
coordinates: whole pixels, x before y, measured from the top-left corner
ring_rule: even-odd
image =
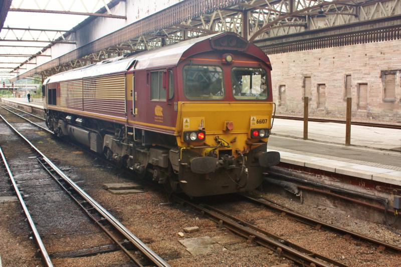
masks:
[[[203,204],[195,204],[177,195],[171,195],[170,197],[172,201],[175,201],[179,204],[185,204],[193,208],[194,210],[197,210],[202,215],[208,216],[220,226],[224,226],[229,230],[237,233],[238,235],[248,238],[248,240],[251,242],[255,242],[273,251],[276,251],[276,253],[297,262],[301,266],[347,266],[331,258],[319,255],[306,248],[293,244],[287,240],[284,240],[281,237],[271,234],[256,226],[253,226],[216,208]]]

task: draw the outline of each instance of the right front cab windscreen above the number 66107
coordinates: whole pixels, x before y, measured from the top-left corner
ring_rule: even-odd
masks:
[[[267,98],[267,75],[262,68],[233,68],[231,82],[236,99],[260,100]]]

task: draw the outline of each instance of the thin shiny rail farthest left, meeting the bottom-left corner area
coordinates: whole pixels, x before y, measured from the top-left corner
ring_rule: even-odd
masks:
[[[0,115],[0,116],[1,116],[1,115]],[[13,175],[13,173],[11,172],[10,166],[9,166],[9,164],[7,163],[6,156],[4,155],[3,150],[2,150],[1,147],[0,147],[0,155],[2,156],[3,164],[4,164],[4,166],[5,166],[6,170],[7,170],[7,173],[9,174],[10,180],[11,180],[11,182],[13,183],[13,187],[14,187],[14,190],[16,191],[18,200],[20,201],[20,204],[21,204],[21,206],[22,206],[22,209],[24,210],[25,216],[27,217],[29,226],[30,226],[31,229],[32,229],[32,232],[33,232],[33,234],[34,234],[36,243],[37,243],[37,245],[38,245],[38,247],[39,247],[39,250],[41,251],[43,263],[45,263],[46,266],[48,266],[48,267],[53,267],[53,263],[52,263],[52,261],[51,261],[51,259],[50,259],[50,257],[49,257],[49,254],[48,254],[48,252],[47,252],[47,250],[46,250],[45,245],[44,245],[43,242],[42,242],[42,238],[41,238],[41,236],[40,236],[38,230],[36,229],[35,223],[34,223],[32,217],[31,217],[31,214],[29,213],[29,210],[28,210],[28,208],[27,208],[27,205],[25,204],[25,201],[24,201],[24,199],[23,199],[23,197],[22,197],[22,195],[21,195],[21,192],[20,192],[20,190],[18,189],[16,180],[14,179],[14,175]],[[0,264],[0,265],[1,265],[1,264]]]

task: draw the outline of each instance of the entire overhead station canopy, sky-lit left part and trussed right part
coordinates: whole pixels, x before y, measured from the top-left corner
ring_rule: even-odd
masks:
[[[234,32],[266,54],[398,39],[401,0],[0,0],[0,78]]]

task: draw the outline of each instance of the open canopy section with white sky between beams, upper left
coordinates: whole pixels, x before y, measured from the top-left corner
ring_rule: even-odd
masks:
[[[3,23],[0,32],[0,78],[11,79],[27,65],[40,65],[40,62],[49,60],[42,58],[51,57],[46,51],[54,44],[75,45],[74,40],[66,37],[91,16],[108,15],[111,2],[4,0],[0,15],[0,23]]]

